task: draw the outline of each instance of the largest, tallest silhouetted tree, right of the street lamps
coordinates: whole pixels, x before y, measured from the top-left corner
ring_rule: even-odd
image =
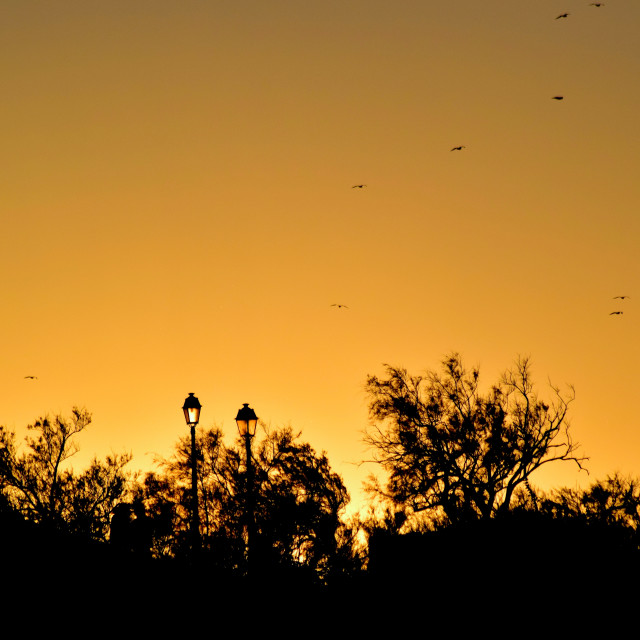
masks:
[[[410,376],[387,366],[386,378],[368,378],[365,442],[389,473],[374,491],[414,513],[459,523],[508,509],[516,489],[545,464],[581,465],[566,421],[572,389],[565,396],[552,387],[554,401],[540,400],[527,359],[486,395],[478,383],[478,369],[467,371],[458,354],[445,358],[442,373]]]

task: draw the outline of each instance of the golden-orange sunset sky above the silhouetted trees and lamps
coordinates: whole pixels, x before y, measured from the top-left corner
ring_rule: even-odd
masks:
[[[591,472],[533,483],[640,474],[639,33],[635,0],[3,0],[0,424],[85,406],[74,464],[147,469],[189,392],[229,442],[248,402],[359,504],[367,375],[529,355]]]

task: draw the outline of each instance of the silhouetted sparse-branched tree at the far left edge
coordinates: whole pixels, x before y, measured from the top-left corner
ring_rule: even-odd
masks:
[[[85,409],[69,418],[39,418],[27,429],[28,451],[21,454],[15,433],[0,427],[0,488],[9,505],[28,521],[106,540],[109,518],[126,490],[125,465],[131,456],[94,458],[80,474],[65,464],[77,451],[75,436],[91,423]]]

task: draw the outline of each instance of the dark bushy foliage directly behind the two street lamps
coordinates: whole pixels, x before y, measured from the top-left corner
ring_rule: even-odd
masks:
[[[341,515],[349,495],[325,454],[298,441],[291,429],[269,431],[252,447],[255,544],[258,571],[302,570],[328,579],[351,571],[359,559],[353,532]],[[156,523],[154,551],[185,555],[188,549],[190,439],[181,438],[175,455],[159,461],[164,473],[150,473],[138,495]],[[244,442],[227,447],[213,428],[196,435],[198,491],[203,549],[207,561],[227,570],[245,565],[247,486]],[[165,523],[160,524],[160,523]],[[170,524],[169,524],[170,523]],[[160,534],[160,531],[165,534]]]

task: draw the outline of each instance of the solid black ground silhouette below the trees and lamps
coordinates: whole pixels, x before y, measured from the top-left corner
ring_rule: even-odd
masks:
[[[317,616],[319,624],[335,617],[336,628],[357,621],[371,630],[409,617],[459,632],[481,628],[482,616],[493,629],[528,620],[575,629],[586,606],[602,614],[638,592],[638,550],[628,535],[535,513],[428,533],[374,533],[369,568],[326,585],[291,567],[263,566],[250,577],[223,571],[206,553],[196,563],[153,560],[25,522],[6,504],[0,519],[5,602],[72,611],[77,624],[99,617],[187,631],[215,612],[252,630],[308,630]]]

